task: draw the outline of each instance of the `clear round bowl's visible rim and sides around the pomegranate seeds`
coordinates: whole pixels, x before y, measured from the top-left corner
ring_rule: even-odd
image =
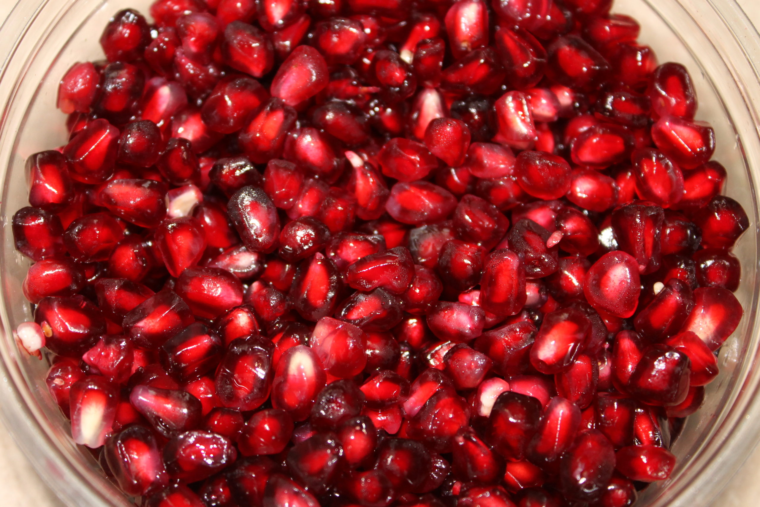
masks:
[[[8,2],[9,0],[5,0]],[[72,442],[68,421],[49,395],[47,365],[21,353],[12,330],[32,319],[21,282],[29,261],[15,251],[11,217],[27,205],[24,162],[65,144],[65,116],[55,109],[58,81],[74,63],[103,57],[98,39],[122,8],[147,14],[150,0],[19,0],[0,29],[0,404],[2,417],[43,480],[72,507],[131,505],[97,460]],[[743,277],[736,296],[745,312],[720,350],[720,375],[704,407],[686,420],[672,447],[669,480],[654,483],[637,505],[709,505],[743,463],[760,433],[758,333],[758,182],[760,97],[758,33],[733,0],[617,0],[613,11],[641,22],[641,42],[660,62],[689,68],[698,92],[697,119],[716,131],[715,159],[728,170],[724,193],[739,201],[750,227],[734,249]]]

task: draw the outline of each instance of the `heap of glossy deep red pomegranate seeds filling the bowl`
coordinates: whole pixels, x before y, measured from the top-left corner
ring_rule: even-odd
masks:
[[[624,507],[739,324],[714,132],[611,0],[158,0],[30,157],[21,347],[145,507]]]

